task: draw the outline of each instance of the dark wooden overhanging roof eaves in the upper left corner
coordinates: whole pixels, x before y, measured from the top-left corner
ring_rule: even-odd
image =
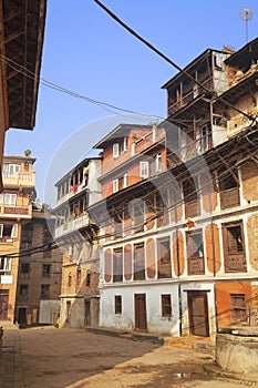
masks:
[[[0,1],[0,171],[6,131],[34,126],[45,10],[47,0]]]

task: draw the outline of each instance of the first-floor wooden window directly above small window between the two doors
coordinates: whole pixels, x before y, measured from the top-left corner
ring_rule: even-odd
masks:
[[[172,277],[172,258],[169,237],[157,241],[157,277]]]

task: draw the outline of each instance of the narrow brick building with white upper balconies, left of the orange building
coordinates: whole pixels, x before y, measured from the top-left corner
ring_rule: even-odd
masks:
[[[101,157],[85,159],[55,184],[55,241],[63,251],[61,327],[99,325],[97,227],[87,208],[101,197]]]

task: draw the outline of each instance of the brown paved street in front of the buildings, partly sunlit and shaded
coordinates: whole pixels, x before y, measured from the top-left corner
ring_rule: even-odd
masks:
[[[1,388],[234,388],[252,382],[211,377],[213,356],[176,346],[52,327],[6,330]]]

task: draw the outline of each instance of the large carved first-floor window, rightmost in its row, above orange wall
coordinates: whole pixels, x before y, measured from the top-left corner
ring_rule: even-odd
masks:
[[[242,223],[224,226],[225,272],[246,272]]]

